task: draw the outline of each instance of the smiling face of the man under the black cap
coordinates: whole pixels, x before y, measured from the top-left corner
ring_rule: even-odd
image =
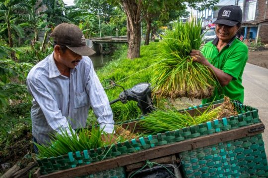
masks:
[[[237,33],[238,27],[235,25],[233,27],[217,24],[216,34],[219,40],[228,43]]]

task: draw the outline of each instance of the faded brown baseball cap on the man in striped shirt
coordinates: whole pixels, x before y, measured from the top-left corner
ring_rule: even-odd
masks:
[[[62,23],[51,33],[57,45],[67,46],[71,51],[81,56],[90,56],[96,52],[86,45],[83,32],[74,24]]]

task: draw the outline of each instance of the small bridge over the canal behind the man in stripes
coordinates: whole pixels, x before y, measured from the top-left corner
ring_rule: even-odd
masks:
[[[91,49],[96,51],[96,54],[100,54],[102,52],[102,44],[124,44],[128,43],[127,36],[121,37],[103,37],[103,38],[91,38],[86,39],[86,45]]]

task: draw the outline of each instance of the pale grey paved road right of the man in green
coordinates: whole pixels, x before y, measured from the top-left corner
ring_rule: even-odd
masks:
[[[244,104],[259,109],[259,117],[266,127],[263,139],[268,155],[268,69],[247,63],[242,84],[245,87]]]

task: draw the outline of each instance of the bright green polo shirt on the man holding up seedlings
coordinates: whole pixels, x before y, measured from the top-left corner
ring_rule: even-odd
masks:
[[[244,102],[244,87],[242,86],[242,74],[248,60],[248,47],[237,38],[233,38],[219,52],[216,45],[218,38],[203,46],[203,56],[216,68],[233,77],[232,81],[225,86],[214,89],[213,96],[202,100],[208,103],[228,96],[231,100]]]

